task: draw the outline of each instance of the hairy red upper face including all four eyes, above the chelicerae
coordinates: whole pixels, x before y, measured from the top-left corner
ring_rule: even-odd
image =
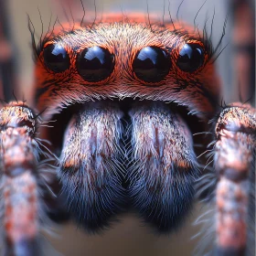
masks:
[[[206,35],[179,24],[122,17],[61,29],[37,50],[37,106],[52,115],[74,102],[131,98],[176,102],[202,117],[219,93],[213,51]]]

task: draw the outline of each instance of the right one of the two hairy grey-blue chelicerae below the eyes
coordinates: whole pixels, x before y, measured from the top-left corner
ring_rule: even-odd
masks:
[[[184,219],[193,202],[198,168],[192,135],[164,102],[137,103],[130,116],[130,197],[146,222],[167,232]]]

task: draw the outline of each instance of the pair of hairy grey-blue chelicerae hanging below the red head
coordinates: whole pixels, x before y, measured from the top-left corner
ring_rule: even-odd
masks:
[[[165,232],[191,207],[196,163],[187,124],[164,102],[97,101],[73,112],[59,178],[69,211],[86,229],[108,227],[131,203]]]

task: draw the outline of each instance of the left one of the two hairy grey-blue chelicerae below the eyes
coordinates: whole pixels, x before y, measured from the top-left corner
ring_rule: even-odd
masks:
[[[123,205],[121,118],[112,102],[87,103],[65,133],[59,178],[71,215],[88,230],[109,225]]]

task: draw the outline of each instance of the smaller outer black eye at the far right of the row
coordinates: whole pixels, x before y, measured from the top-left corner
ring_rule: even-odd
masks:
[[[200,68],[205,60],[204,50],[197,44],[186,44],[180,50],[176,65],[186,72],[193,72]]]

